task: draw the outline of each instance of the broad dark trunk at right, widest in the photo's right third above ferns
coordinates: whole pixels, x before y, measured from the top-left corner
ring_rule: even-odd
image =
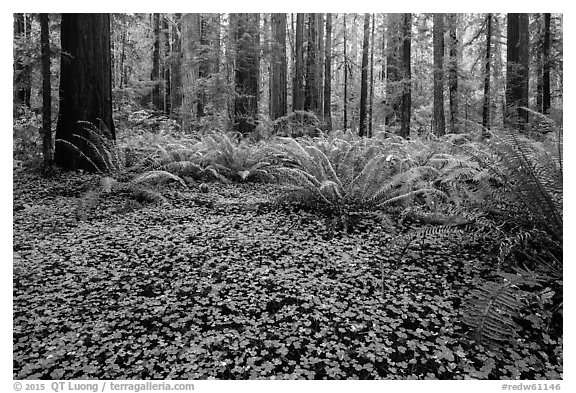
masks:
[[[506,49],[506,122],[524,130],[528,123],[528,14],[508,14]]]

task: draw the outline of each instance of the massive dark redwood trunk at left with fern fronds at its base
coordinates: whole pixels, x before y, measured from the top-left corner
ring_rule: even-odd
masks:
[[[68,143],[98,164],[86,126],[92,123],[101,136],[115,140],[112,120],[112,70],[109,14],[62,14],[60,111],[54,159],[65,169],[95,168]],[[79,135],[79,137],[74,136]],[[104,169],[104,168],[100,168]]]

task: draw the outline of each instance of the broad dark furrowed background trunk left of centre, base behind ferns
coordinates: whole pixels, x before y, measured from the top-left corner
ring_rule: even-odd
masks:
[[[235,26],[236,70],[234,124],[243,135],[251,133],[258,119],[260,78],[260,15],[237,14]]]

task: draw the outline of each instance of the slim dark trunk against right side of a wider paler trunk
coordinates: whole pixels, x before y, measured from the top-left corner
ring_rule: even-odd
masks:
[[[410,136],[412,114],[412,14],[403,14],[402,23],[402,106],[400,108],[400,136]]]

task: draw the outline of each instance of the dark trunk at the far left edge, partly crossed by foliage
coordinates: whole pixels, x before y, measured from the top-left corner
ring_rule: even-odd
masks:
[[[25,47],[30,40],[32,19],[30,14],[14,14],[14,38],[19,46]],[[24,61],[23,56],[16,55],[14,59],[14,102],[30,108],[31,95],[31,67]]]

